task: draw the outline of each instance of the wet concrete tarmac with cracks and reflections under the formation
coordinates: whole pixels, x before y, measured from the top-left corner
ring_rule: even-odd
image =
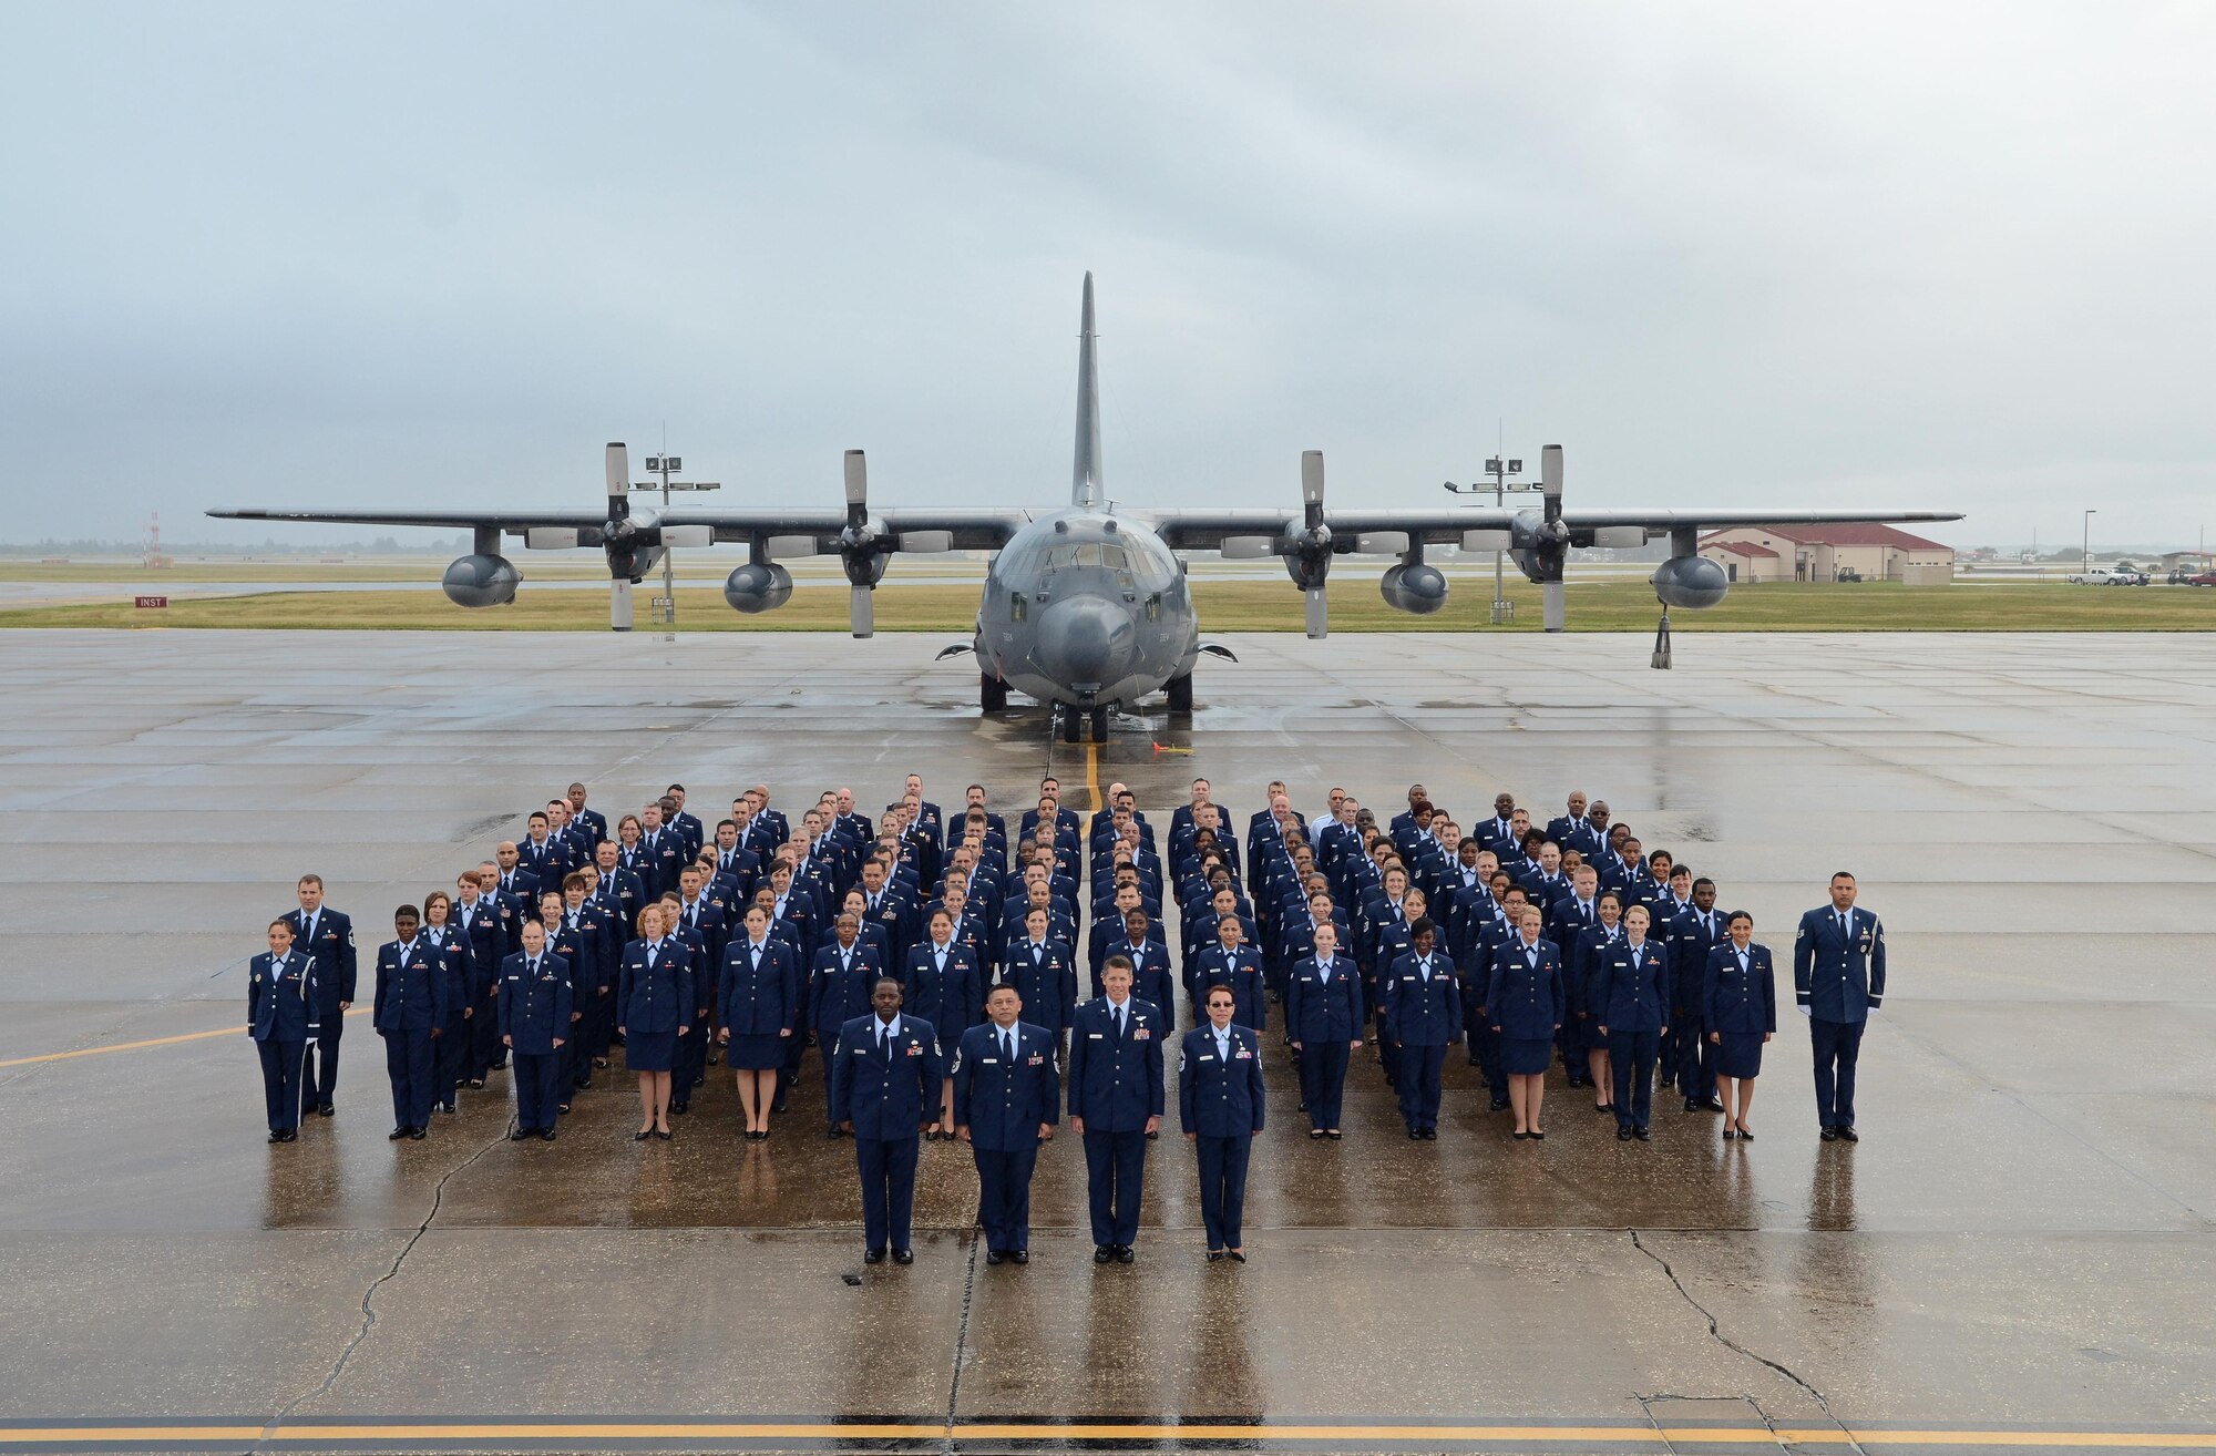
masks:
[[[979,718],[924,636],[0,634],[0,1447],[2216,1447],[2216,643],[1228,643],[1190,727],[1095,751]],[[767,1144],[720,1068],[629,1141],[620,1064],[552,1146],[503,1141],[505,1075],[388,1144],[357,1015],[339,1115],[264,1141],[244,966],[297,873],[368,999],[392,906],[572,778],[714,822],[911,769],[1010,811],[1121,778],[1163,829],[1194,773],[1241,829],[1270,778],[1312,816],[1587,789],[1782,968],[1853,869],[1892,957],[1864,1141],[1817,1141],[1788,1008],[1753,1144],[1662,1097],[1618,1144],[1558,1073],[1518,1144],[1460,1055],[1436,1144],[1367,1055],[1310,1144],[1272,1057],[1243,1268],[1174,1132],[1139,1263],[1095,1268],[1066,1130],[1028,1268],[944,1144],[915,1265],[864,1268],[813,1057]]]

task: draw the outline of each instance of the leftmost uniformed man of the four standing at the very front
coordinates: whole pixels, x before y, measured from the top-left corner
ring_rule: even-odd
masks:
[[[915,1263],[909,1226],[915,1214],[920,1135],[935,1132],[940,1110],[940,1033],[900,1015],[900,982],[880,975],[869,993],[873,1015],[840,1026],[831,1075],[831,1117],[853,1135],[862,1172],[862,1263]]]

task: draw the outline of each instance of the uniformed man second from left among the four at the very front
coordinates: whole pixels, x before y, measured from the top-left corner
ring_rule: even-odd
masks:
[[[1055,1033],[1019,1022],[1022,1011],[1015,986],[993,986],[986,1024],[955,1048],[955,1132],[977,1159],[986,1263],[1030,1263],[1030,1175],[1061,1121]]]

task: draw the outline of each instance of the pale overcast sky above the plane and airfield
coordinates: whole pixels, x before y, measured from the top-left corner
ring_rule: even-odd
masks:
[[[2216,7],[0,7],[0,536],[208,505],[2216,525]],[[284,527],[279,527],[284,530]],[[308,527],[290,527],[312,534]]]

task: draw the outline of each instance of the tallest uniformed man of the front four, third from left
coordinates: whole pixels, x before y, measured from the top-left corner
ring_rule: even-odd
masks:
[[[1077,1008],[1070,1031],[1070,1132],[1086,1141],[1092,1263],[1137,1259],[1146,1139],[1161,1128],[1163,1013],[1130,993],[1130,957],[1101,966],[1101,995]]]

